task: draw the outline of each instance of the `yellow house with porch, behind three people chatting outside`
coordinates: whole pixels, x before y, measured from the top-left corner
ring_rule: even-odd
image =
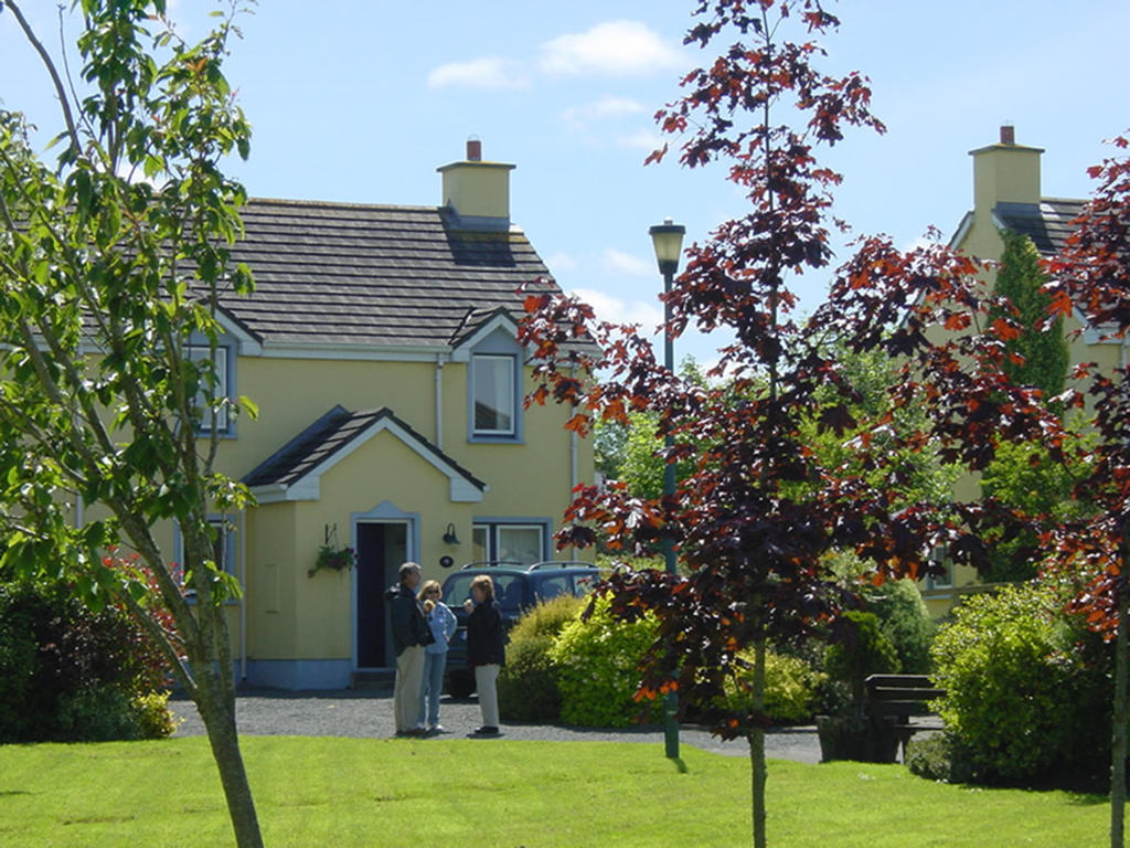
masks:
[[[217,467],[258,505],[217,516],[245,587],[233,648],[252,685],[332,689],[393,663],[384,590],[479,560],[534,562],[592,448],[567,409],[523,409],[516,287],[549,271],[510,219],[513,165],[440,168],[440,206],[252,200],[234,259],[255,293],[223,300],[217,365],[258,419],[214,422]],[[175,530],[172,540],[176,550]],[[320,548],[356,568],[311,574]]]

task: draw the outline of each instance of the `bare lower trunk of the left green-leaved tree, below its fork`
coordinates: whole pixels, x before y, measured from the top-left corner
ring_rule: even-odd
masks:
[[[255,802],[251,797],[251,784],[243,765],[240,736],[235,729],[235,698],[225,696],[223,687],[214,675],[197,689],[197,708],[208,730],[212,758],[224,787],[235,843],[238,848],[262,848],[263,838],[259,831]]]

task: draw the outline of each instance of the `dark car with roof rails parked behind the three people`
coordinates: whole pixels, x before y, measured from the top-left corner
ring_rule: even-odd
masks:
[[[467,667],[467,613],[463,602],[471,597],[471,580],[489,574],[495,600],[508,631],[524,609],[558,595],[581,597],[592,589],[600,570],[588,562],[547,561],[532,565],[510,562],[471,562],[443,581],[443,603],[459,618],[459,629],[447,650],[447,693],[466,698],[475,691],[475,674]]]

